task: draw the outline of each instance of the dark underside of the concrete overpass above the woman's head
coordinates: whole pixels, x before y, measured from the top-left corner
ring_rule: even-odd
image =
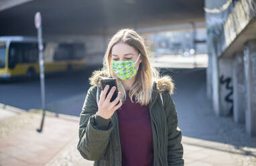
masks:
[[[35,35],[37,11],[42,13],[44,36],[112,35],[121,27],[204,22],[203,7],[203,0],[2,0],[0,35]]]

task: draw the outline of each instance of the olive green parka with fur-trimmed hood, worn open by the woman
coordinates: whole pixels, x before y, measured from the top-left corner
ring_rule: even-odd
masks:
[[[77,149],[84,159],[94,161],[95,166],[121,166],[121,143],[117,112],[109,120],[97,116],[97,94],[99,76],[108,77],[105,72],[94,72],[82,112],[80,113],[79,141]],[[97,88],[99,88],[97,93]],[[182,132],[171,94],[172,78],[164,76],[153,84],[149,114],[153,137],[153,166],[183,166]],[[159,95],[162,93],[162,99]],[[98,96],[99,97],[99,96]],[[162,103],[164,102],[164,105]],[[118,110],[117,110],[118,111]]]

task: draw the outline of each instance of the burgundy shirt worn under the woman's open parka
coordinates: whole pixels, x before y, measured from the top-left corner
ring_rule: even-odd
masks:
[[[153,139],[149,107],[127,98],[117,110],[123,166],[153,164]],[[135,100],[133,100],[135,101]]]

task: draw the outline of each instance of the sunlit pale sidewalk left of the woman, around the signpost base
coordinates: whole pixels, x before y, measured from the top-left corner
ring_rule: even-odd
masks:
[[[8,112],[8,113],[7,113]],[[42,112],[15,112],[0,108],[0,165],[92,165],[76,150],[78,122],[76,116],[46,112],[44,129],[38,133]],[[72,152],[68,155],[65,152]],[[62,161],[56,164],[58,157]],[[65,158],[66,157],[66,158]],[[65,162],[65,164],[63,163]],[[80,162],[82,161],[82,162]]]

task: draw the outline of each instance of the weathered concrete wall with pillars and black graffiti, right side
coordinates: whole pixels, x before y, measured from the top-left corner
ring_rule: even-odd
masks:
[[[256,0],[205,0],[207,96],[217,116],[256,135]]]

